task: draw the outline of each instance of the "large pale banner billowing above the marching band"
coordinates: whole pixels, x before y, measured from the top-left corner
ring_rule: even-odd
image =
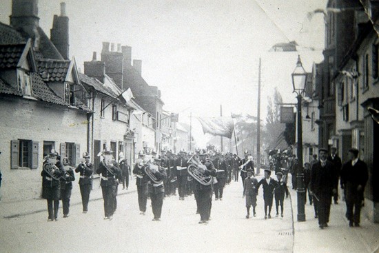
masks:
[[[203,132],[232,138],[234,123],[232,117],[196,117],[203,126]]]

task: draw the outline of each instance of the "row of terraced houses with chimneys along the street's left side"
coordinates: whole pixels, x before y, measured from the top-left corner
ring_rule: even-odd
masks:
[[[49,38],[37,2],[13,0],[10,25],[0,23],[1,201],[40,197],[52,149],[73,166],[90,152],[96,167],[107,147],[130,165],[140,150],[187,148],[186,130],[163,110],[161,91],[143,79],[130,46],[103,42],[100,61],[93,52],[81,73],[69,58],[65,3]]]

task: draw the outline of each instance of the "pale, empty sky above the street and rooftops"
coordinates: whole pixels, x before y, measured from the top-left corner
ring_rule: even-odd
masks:
[[[39,24],[48,36],[59,0],[39,0]],[[66,0],[70,57],[83,62],[100,55],[102,42],[132,47],[142,60],[142,77],[158,86],[164,109],[192,116],[233,113],[256,116],[261,58],[261,117],[277,87],[294,103],[291,72],[298,54],[305,70],[322,61],[324,17],[307,12],[327,0]],[[11,0],[0,0],[0,22],[9,24]],[[299,52],[269,52],[275,43],[295,40]],[[311,51],[308,48],[316,50]],[[99,59],[99,58],[98,58]],[[194,121],[193,121],[194,123]],[[195,129],[198,125],[194,123]],[[205,138],[206,139],[206,138]]]

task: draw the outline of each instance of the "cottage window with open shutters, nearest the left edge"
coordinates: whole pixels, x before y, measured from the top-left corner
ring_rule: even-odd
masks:
[[[10,168],[38,168],[39,143],[30,140],[13,140],[10,142]]]

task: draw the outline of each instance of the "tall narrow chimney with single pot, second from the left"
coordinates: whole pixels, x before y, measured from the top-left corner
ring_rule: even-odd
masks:
[[[61,15],[54,15],[50,40],[61,53],[63,59],[69,59],[68,17],[65,14],[65,3],[61,3]]]

